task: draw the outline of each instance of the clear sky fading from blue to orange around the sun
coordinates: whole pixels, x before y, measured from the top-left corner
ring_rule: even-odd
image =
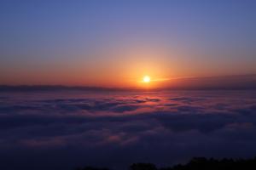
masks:
[[[253,0],[3,0],[0,84],[123,88],[148,75],[160,87],[254,75],[255,8]]]

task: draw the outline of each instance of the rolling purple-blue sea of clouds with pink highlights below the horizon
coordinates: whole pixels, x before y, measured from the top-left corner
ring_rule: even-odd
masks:
[[[255,91],[3,93],[1,169],[255,156]]]

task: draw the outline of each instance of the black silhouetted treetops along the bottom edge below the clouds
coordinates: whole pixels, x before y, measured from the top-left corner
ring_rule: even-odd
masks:
[[[177,164],[173,167],[156,167],[152,163],[134,163],[129,170],[255,170],[256,157],[253,159],[207,159],[195,157],[188,163]],[[78,167],[76,170],[109,170],[107,167]]]

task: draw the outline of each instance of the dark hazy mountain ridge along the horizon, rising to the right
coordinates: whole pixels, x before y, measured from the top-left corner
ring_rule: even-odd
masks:
[[[173,78],[175,79],[175,78]],[[184,77],[160,86],[147,88],[158,90],[248,90],[256,89],[256,74],[223,77]],[[0,85],[0,91],[35,91],[35,90],[87,90],[87,91],[144,91],[145,88],[107,88],[99,86],[65,85]]]

